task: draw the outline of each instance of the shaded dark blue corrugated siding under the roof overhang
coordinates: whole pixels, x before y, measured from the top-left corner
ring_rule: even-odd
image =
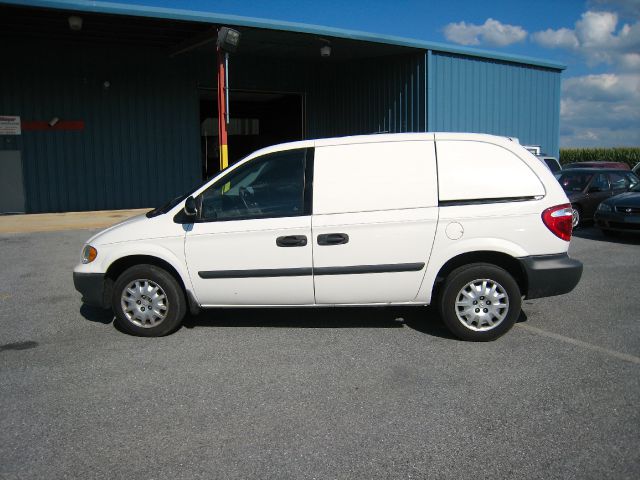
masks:
[[[16,48],[0,76],[1,113],[85,123],[10,139],[22,151],[28,212],[153,206],[199,183],[198,87],[216,87],[214,55],[55,51]],[[341,64],[236,57],[230,74],[236,89],[304,94],[307,138],[426,129],[424,54]]]

